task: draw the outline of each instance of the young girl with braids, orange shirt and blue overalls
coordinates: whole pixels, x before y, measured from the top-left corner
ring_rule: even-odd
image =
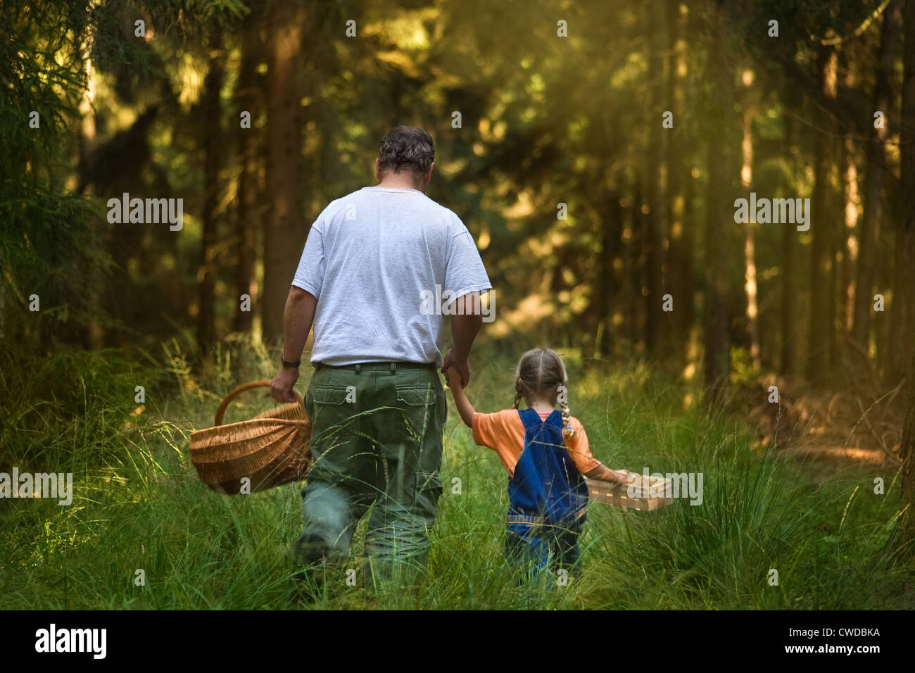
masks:
[[[569,415],[559,355],[542,348],[524,353],[515,373],[514,408],[494,414],[474,410],[456,370],[445,375],[473,439],[495,450],[509,473],[506,557],[515,566],[576,570],[588,496],[581,475],[626,483],[629,472],[608,470],[591,455],[585,429]],[[522,398],[527,408],[519,410]]]

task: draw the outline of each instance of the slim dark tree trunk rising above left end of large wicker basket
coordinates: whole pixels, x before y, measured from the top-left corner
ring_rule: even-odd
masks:
[[[224,78],[224,55],[221,38],[217,33],[210,46],[210,72],[203,84],[203,100],[200,105],[203,137],[203,241],[200,249],[200,266],[203,278],[199,285],[199,308],[197,313],[197,341],[206,351],[215,338],[215,291],[216,291],[216,210],[220,198],[220,165],[222,152],[220,92]]]

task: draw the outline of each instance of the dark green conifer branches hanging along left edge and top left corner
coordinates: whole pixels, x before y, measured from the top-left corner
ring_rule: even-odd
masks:
[[[87,61],[120,75],[117,88],[124,92],[124,78],[143,72],[148,77],[154,64],[142,40],[127,38],[133,36],[130,17],[145,16],[153,25],[180,26],[199,36],[210,22],[237,20],[246,8],[240,0],[150,2],[133,8],[118,2],[9,0],[3,9],[0,335],[24,349],[46,352],[52,339],[81,342],[83,326],[118,324],[98,300],[113,267],[100,244],[108,228],[102,203],[75,190],[76,177],[65,181],[81,149],[73,130],[81,123],[79,107],[87,95]],[[38,113],[37,128],[32,113]],[[32,295],[40,300],[38,312],[27,309]]]

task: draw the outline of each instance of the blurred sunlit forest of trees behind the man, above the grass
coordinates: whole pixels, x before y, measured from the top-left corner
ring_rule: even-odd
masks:
[[[479,343],[744,395],[763,444],[819,435],[911,502],[912,0],[0,6],[5,373],[275,347],[310,223],[419,125],[495,288]],[[183,229],[109,223],[124,192]],[[809,198],[809,231],[735,223],[750,192]]]

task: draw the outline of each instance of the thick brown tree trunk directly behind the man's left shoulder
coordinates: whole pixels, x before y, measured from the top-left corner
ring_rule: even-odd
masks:
[[[264,230],[264,342],[283,337],[289,285],[307,237],[299,194],[302,165],[301,84],[304,68],[302,16],[296,3],[274,3],[268,19],[267,190],[270,212]]]

